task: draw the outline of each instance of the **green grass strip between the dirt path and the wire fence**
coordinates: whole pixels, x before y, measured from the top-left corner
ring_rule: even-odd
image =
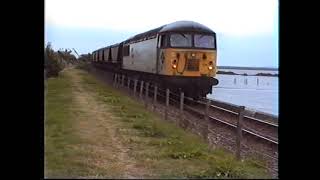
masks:
[[[210,150],[198,136],[145,110],[127,95],[81,71],[84,87],[119,117],[119,134],[139,166],[160,178],[271,178],[257,160],[237,161],[222,149]]]

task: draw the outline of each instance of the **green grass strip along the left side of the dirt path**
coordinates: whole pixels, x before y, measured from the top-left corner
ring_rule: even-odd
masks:
[[[65,166],[74,170],[81,164],[70,161],[73,150],[68,145],[79,143],[72,135],[72,114],[70,112],[72,97],[70,82],[64,74],[48,79],[45,97],[45,176],[72,175]]]

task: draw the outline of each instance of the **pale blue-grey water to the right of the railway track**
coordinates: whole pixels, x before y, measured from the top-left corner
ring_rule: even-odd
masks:
[[[241,71],[253,74],[251,70]],[[257,71],[254,72],[256,73]],[[209,99],[243,105],[247,109],[278,115],[278,77],[218,74],[216,78],[219,84],[213,87],[211,94],[207,95]]]

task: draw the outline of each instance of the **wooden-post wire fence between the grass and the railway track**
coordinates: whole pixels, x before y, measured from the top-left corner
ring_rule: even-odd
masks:
[[[174,119],[175,117],[175,119],[177,119],[176,120],[177,124],[181,124],[183,122],[188,121],[188,124],[192,124],[193,126],[199,126],[199,124],[198,125],[194,124],[192,121],[188,120],[188,118],[185,118],[186,114],[196,115],[198,119],[201,119],[202,121],[204,120],[203,122],[206,123],[206,132],[204,133],[206,137],[204,138],[208,140],[210,138],[209,136],[214,135],[214,137],[217,139],[223,139],[225,143],[221,143],[222,146],[225,145],[225,148],[234,152],[236,155],[236,158],[239,160],[241,159],[241,157],[243,157],[244,154],[246,154],[243,151],[247,149],[250,152],[254,152],[263,157],[266,157],[266,159],[276,161],[276,164],[278,162],[278,157],[268,155],[262,152],[261,150],[252,148],[251,145],[248,146],[245,143],[243,143],[242,136],[244,131],[251,132],[251,135],[259,134],[259,132],[257,132],[252,128],[247,127],[243,123],[244,110],[245,110],[244,106],[239,106],[238,112],[232,112],[238,116],[237,124],[232,124],[225,120],[218,119],[216,117],[211,117],[209,115],[208,113],[209,107],[216,106],[216,105],[212,105],[209,100],[207,100],[206,102],[194,100],[191,97],[184,96],[184,93],[181,91],[172,92],[170,91],[170,89],[160,88],[155,83],[138,81],[137,79],[129,78],[120,74],[114,75],[113,85],[117,88],[123,87],[124,89],[129,90],[130,94],[132,94],[135,98],[138,98],[139,100],[143,101],[146,107],[152,104],[153,109],[164,108],[164,110],[162,111],[164,114],[164,119],[169,119],[169,118]],[[180,94],[177,94],[177,93],[180,93]],[[190,103],[200,105],[204,107],[204,109],[201,110],[201,109],[192,107]],[[216,107],[221,108],[218,106]],[[175,112],[173,113],[172,111],[175,111]],[[231,129],[234,129],[235,131],[233,130],[233,134],[234,134],[233,138],[226,137],[226,135],[224,135],[226,133],[223,133],[222,130],[220,130],[219,132],[219,129],[217,127],[210,125],[211,121],[223,123],[225,126],[228,126],[229,128],[231,127]],[[226,145],[226,144],[229,144],[229,145]],[[277,154],[277,151],[271,152],[269,154]],[[261,166],[273,172],[277,171],[277,167],[270,168],[264,165],[261,165]]]

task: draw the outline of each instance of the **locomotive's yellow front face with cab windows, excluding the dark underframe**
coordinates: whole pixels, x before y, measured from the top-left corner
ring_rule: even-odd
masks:
[[[215,34],[167,33],[161,37],[160,74],[186,77],[216,75]]]

